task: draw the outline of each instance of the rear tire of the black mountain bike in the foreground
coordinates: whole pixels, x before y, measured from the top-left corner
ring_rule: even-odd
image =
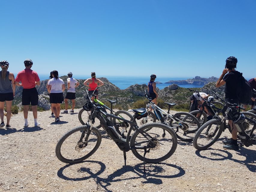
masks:
[[[149,129],[149,128],[151,128],[151,129]],[[156,133],[156,130],[157,129],[155,129],[155,128],[159,128],[159,134],[157,134]],[[175,152],[175,150],[176,150],[176,148],[177,148],[177,137],[176,137],[176,134],[174,133],[174,131],[170,128],[170,127],[168,127],[167,125],[164,125],[164,124],[162,124],[162,123],[147,123],[147,124],[145,124],[145,125],[143,125],[143,126],[141,126],[140,128],[139,128],[139,130],[140,131],[144,131],[144,130],[147,130],[147,129],[149,129],[149,131],[147,131],[147,132],[144,132],[144,133],[146,133],[146,134],[152,134],[152,135],[156,135],[156,136],[160,136],[162,133],[165,133],[165,135],[163,135],[162,134],[162,137],[160,137],[159,139],[161,139],[160,141],[162,142],[161,143],[161,146],[160,145],[158,145],[159,146],[159,150],[160,149],[163,149],[164,148],[164,144],[167,144],[167,143],[172,143],[172,146],[171,146],[171,148],[169,148],[169,147],[167,147],[167,149],[169,150],[170,149],[170,151],[169,152],[167,152],[167,154],[166,155],[164,155],[163,157],[161,157],[161,158],[155,158],[156,156],[154,155],[154,158],[149,158],[149,154],[150,154],[150,152],[151,152],[151,154],[153,155],[153,153],[155,152],[155,151],[157,151],[158,149],[151,149],[148,153],[146,153],[146,156],[145,156],[145,159],[143,158],[143,155],[144,155],[144,149],[132,149],[132,153],[134,154],[134,156],[135,157],[137,157],[139,160],[141,160],[141,161],[143,161],[143,159],[145,160],[145,162],[146,163],[159,163],[159,162],[161,162],[161,161],[164,161],[164,160],[166,160],[166,159],[168,159],[171,155],[173,155],[173,153]],[[164,130],[164,131],[163,131]],[[161,131],[163,131],[163,132],[161,132]],[[168,134],[166,134],[166,132],[168,133]],[[162,138],[164,138],[164,137],[170,137],[170,138],[168,138],[167,140],[163,140]],[[135,132],[134,132],[134,134],[131,136],[131,142],[130,142],[130,146],[133,148],[134,146],[137,146],[137,145],[141,145],[143,142],[142,142],[142,140],[140,139],[140,138],[142,138],[143,137],[143,135],[141,135],[140,134],[140,132],[138,131],[138,130],[136,130]],[[138,140],[140,141],[140,142],[136,142],[136,138],[138,138]],[[143,138],[145,138],[145,137],[143,137]],[[149,139],[151,139],[150,137],[148,137]],[[158,142],[158,140],[157,140],[158,138],[157,137],[155,137],[154,138],[154,141],[155,142]],[[145,138],[145,145],[146,145],[146,142],[147,142],[148,140]],[[167,143],[163,143],[164,141],[166,141]],[[159,142],[158,142],[159,143]],[[165,145],[166,146],[166,145]],[[161,152],[160,152],[161,153]],[[161,153],[161,155],[162,155],[162,153]]]

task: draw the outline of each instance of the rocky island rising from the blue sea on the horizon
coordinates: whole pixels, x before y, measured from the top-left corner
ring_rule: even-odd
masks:
[[[204,78],[204,77],[200,77],[200,76],[195,76],[195,78],[193,79],[187,79],[187,80],[177,80],[177,81],[173,81],[170,80],[168,82],[165,83],[169,83],[169,84],[177,84],[177,85],[187,85],[187,84],[192,84],[192,85],[206,85],[209,82],[216,82],[218,80],[217,77],[209,77],[209,78]]]

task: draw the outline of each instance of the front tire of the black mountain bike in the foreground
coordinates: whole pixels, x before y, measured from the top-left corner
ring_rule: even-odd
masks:
[[[69,164],[74,164],[74,163],[79,163],[79,162],[81,162],[81,161],[83,161],[83,160],[85,160],[86,158],[88,158],[88,157],[90,157],[92,154],[94,154],[95,153],[95,151],[99,148],[99,146],[100,146],[100,144],[101,144],[101,132],[97,129],[97,128],[95,128],[95,127],[92,127],[92,132],[91,132],[91,134],[92,135],[94,135],[94,136],[96,136],[96,139],[97,139],[97,143],[95,144],[95,146],[92,148],[92,150],[90,150],[90,152],[88,152],[86,155],[83,155],[82,157],[80,157],[80,158],[74,158],[74,157],[72,157],[72,158],[67,158],[67,157],[64,157],[63,156],[63,154],[64,153],[66,153],[66,152],[61,152],[61,149],[62,149],[62,146],[63,146],[63,143],[66,141],[66,139],[68,138],[68,137],[70,137],[71,135],[74,135],[75,133],[77,133],[76,135],[77,135],[77,138],[78,138],[78,140],[80,139],[80,137],[81,137],[81,131],[83,131],[83,130],[87,130],[87,125],[82,125],[82,126],[78,126],[78,127],[75,127],[75,128],[73,128],[73,129],[71,129],[70,131],[68,131],[66,134],[64,134],[63,136],[62,136],[62,138],[58,141],[58,143],[57,143],[57,145],[56,145],[56,149],[55,149],[55,153],[56,153],[56,156],[57,156],[57,158],[60,160],[60,161],[62,161],[62,162],[64,162],[64,163],[69,163]],[[91,136],[91,134],[90,134],[90,136]],[[79,136],[80,135],[80,136]],[[84,149],[88,149],[89,147],[90,147],[90,143],[92,143],[92,142],[95,142],[94,140],[92,140],[92,139],[90,139],[90,136],[89,136],[89,139],[88,139],[88,145],[84,148]],[[70,138],[69,138],[70,139]],[[70,139],[71,140],[71,139]],[[71,140],[71,142],[72,142],[72,140]],[[74,145],[76,144],[76,146],[74,147]],[[66,145],[66,144],[65,144]],[[75,148],[75,152],[78,152],[79,150],[76,150],[76,148],[77,148],[77,145],[78,145],[78,143],[76,142],[76,141],[74,141],[73,142],[73,144],[70,144],[70,143],[67,143],[67,146],[70,146],[69,148],[70,149],[73,149],[74,150],[74,148]],[[88,147],[89,146],[89,147]],[[63,148],[65,148],[65,146],[63,146]],[[81,150],[81,152],[84,150],[84,149],[82,149]],[[80,152],[78,152],[78,153],[80,153]],[[70,155],[70,151],[68,151],[68,154]],[[72,156],[72,155],[71,155]]]

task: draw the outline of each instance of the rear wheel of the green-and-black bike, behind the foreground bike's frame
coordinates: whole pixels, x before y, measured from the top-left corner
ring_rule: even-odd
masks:
[[[133,116],[128,111],[119,110],[114,115],[129,121],[133,120]],[[125,122],[119,119],[114,119],[114,118],[112,118],[112,122],[116,128],[116,131],[119,133],[119,135],[121,135],[122,131],[126,133],[128,132],[127,129],[130,127],[130,124],[128,122]]]

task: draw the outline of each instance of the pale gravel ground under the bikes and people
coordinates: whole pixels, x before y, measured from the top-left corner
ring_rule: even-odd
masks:
[[[224,150],[221,140],[229,137],[227,130],[205,151],[178,140],[169,159],[146,164],[146,175],[131,151],[124,166],[122,151],[107,135],[86,161],[62,163],[55,156],[56,143],[80,125],[78,112],[61,114],[58,123],[50,111],[39,112],[40,127],[33,127],[29,112],[28,128],[19,113],[11,118],[11,129],[0,128],[0,191],[256,191],[255,146]]]

